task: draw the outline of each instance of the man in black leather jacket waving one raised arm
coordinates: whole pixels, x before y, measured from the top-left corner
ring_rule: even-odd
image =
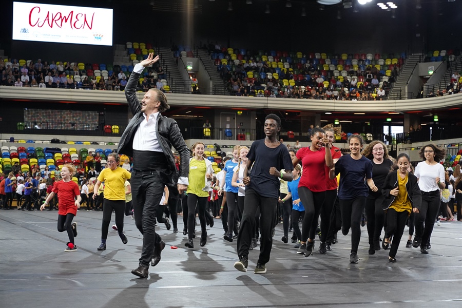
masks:
[[[165,94],[150,89],[141,101],[137,97],[137,84],[144,67],[159,61],[149,54],[137,64],[125,87],[125,97],[133,114],[119,143],[118,153],[133,157],[131,191],[133,212],[137,228],[143,234],[143,249],[138,268],[131,273],[139,277],[149,274],[149,262],[155,266],[161,259],[165,243],[155,231],[156,210],[164,187],[178,185],[180,194],[186,190],[189,173],[189,150],[175,120],[163,117],[160,112],[170,108]],[[175,165],[171,146],[180,153],[180,172]],[[178,179],[178,184],[175,181]]]

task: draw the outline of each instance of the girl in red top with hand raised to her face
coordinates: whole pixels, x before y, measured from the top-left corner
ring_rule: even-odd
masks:
[[[298,194],[305,207],[305,217],[303,218],[302,237],[297,254],[303,254],[305,257],[311,256],[313,253],[316,227],[325,199],[325,168],[330,168],[333,165],[331,151],[325,150],[329,146],[329,139],[325,138],[325,131],[319,127],[313,128],[310,139],[311,146],[298,150],[296,157],[292,160],[294,166],[301,161],[303,167],[302,176],[298,183]]]

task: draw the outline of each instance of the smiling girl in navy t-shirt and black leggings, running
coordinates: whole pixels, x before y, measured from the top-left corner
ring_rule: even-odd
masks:
[[[340,174],[338,198],[342,215],[342,234],[347,235],[351,228],[350,263],[358,263],[358,246],[361,237],[361,214],[369,188],[378,189],[372,180],[372,162],[361,155],[364,145],[362,137],[352,135],[348,138],[351,154],[340,157],[329,172],[330,179]],[[364,183],[367,179],[367,185]]]

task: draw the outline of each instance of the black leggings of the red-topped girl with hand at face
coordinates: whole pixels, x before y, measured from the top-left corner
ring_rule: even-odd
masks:
[[[298,187],[298,195],[305,208],[305,217],[302,224],[302,242],[308,238],[314,240],[318,227],[319,214],[325,200],[325,191],[314,192],[308,187]]]

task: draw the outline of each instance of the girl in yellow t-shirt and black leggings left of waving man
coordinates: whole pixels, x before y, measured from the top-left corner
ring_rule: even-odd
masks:
[[[101,245],[99,251],[106,250],[106,239],[109,224],[111,222],[112,210],[115,212],[115,225],[119,232],[122,243],[128,242],[124,234],[124,212],[125,212],[125,180],[131,178],[130,172],[119,167],[119,156],[117,153],[110,153],[107,156],[108,168],[101,171],[98,181],[93,188],[93,199],[99,194],[99,188],[104,182],[104,203],[103,203],[103,224],[101,226]]]

